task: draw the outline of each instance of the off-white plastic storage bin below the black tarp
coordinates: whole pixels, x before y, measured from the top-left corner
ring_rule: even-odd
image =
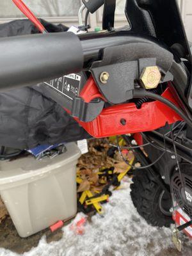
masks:
[[[20,237],[28,237],[77,212],[76,143],[50,159],[33,156],[0,162],[0,195]]]

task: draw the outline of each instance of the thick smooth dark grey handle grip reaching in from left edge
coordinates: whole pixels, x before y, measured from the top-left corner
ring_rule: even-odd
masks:
[[[0,50],[0,91],[49,81],[83,68],[83,49],[74,33],[2,38]]]

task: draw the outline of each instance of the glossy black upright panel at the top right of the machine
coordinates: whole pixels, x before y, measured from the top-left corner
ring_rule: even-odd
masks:
[[[127,0],[125,15],[132,32],[154,36],[164,42],[178,63],[180,58],[189,61],[188,84],[181,88],[181,94],[192,109],[192,56],[177,0]]]

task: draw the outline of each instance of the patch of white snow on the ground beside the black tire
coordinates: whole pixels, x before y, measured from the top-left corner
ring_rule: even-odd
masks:
[[[97,214],[92,217],[92,221],[86,223],[83,236],[74,234],[71,225],[68,225],[63,228],[63,238],[60,241],[47,244],[45,237],[42,237],[38,247],[23,256],[177,255],[170,230],[150,227],[138,215],[129,192],[129,182],[126,182],[124,189],[115,191],[109,203],[104,206],[104,217]],[[74,222],[81,217],[82,214],[78,214]],[[188,239],[186,245],[189,252],[182,255],[190,255],[192,243]],[[0,256],[16,255],[17,253],[0,249]]]

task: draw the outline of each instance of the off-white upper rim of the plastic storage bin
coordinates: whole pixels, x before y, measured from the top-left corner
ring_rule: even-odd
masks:
[[[76,143],[67,143],[67,151],[54,158],[45,157],[36,160],[29,155],[13,161],[0,161],[0,191],[4,189],[3,185],[13,184],[14,182],[32,182],[36,177],[42,177],[51,172],[57,172],[63,166],[77,161],[81,152]],[[13,185],[14,186],[14,185]]]

